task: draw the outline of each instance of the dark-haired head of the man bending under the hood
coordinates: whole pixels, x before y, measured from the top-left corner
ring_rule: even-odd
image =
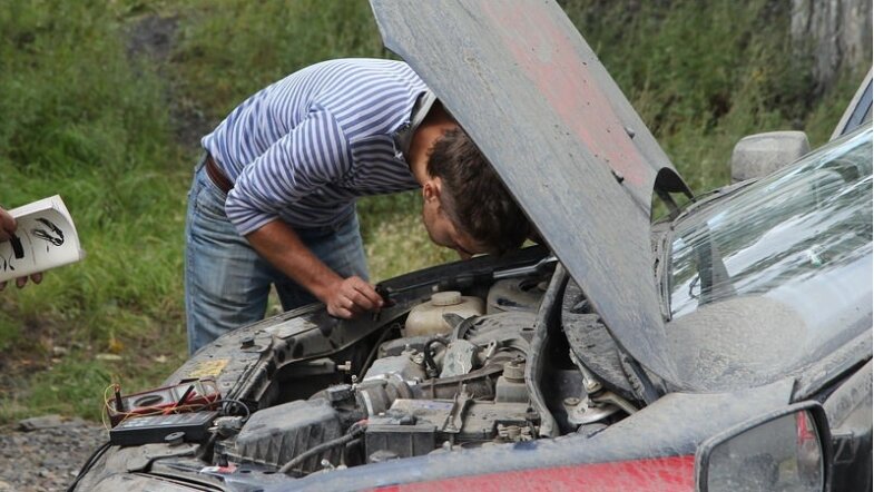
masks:
[[[528,237],[528,219],[461,128],[445,130],[434,142],[426,171],[422,215],[434,243],[467,257],[502,254]]]

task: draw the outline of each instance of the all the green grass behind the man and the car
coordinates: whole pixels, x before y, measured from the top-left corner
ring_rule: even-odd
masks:
[[[785,56],[787,12],[773,4],[562,2],[697,191],[728,181],[746,134],[796,128],[825,141],[863,75],[813,94],[803,60]],[[175,23],[166,56],[131,46],[144,19]],[[143,390],[184,361],[197,142],[180,129],[208,131],[308,63],[389,56],[363,0],[1,2],[0,204],[60,194],[88,256],[0,294],[0,422],[98,419],[109,382]],[[360,201],[373,279],[454,259],[428,240],[420,207],[415,193]]]

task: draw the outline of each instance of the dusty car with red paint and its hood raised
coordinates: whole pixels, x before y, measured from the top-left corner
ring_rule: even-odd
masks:
[[[224,335],[107,398],[71,490],[871,489],[870,77],[832,141],[693,197],[554,2],[372,6],[541,244]]]

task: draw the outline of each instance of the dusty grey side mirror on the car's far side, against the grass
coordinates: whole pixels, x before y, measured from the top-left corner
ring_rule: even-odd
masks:
[[[749,135],[731,152],[731,183],[767,176],[809,151],[804,131]]]

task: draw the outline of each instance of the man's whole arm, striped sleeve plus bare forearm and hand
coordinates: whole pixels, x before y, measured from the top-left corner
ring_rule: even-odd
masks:
[[[382,297],[364,279],[333,272],[279,215],[341,179],[351,159],[333,115],[314,107],[240,173],[225,205],[228,219],[261,256],[325,303],[328,314],[344,318],[379,308]]]

